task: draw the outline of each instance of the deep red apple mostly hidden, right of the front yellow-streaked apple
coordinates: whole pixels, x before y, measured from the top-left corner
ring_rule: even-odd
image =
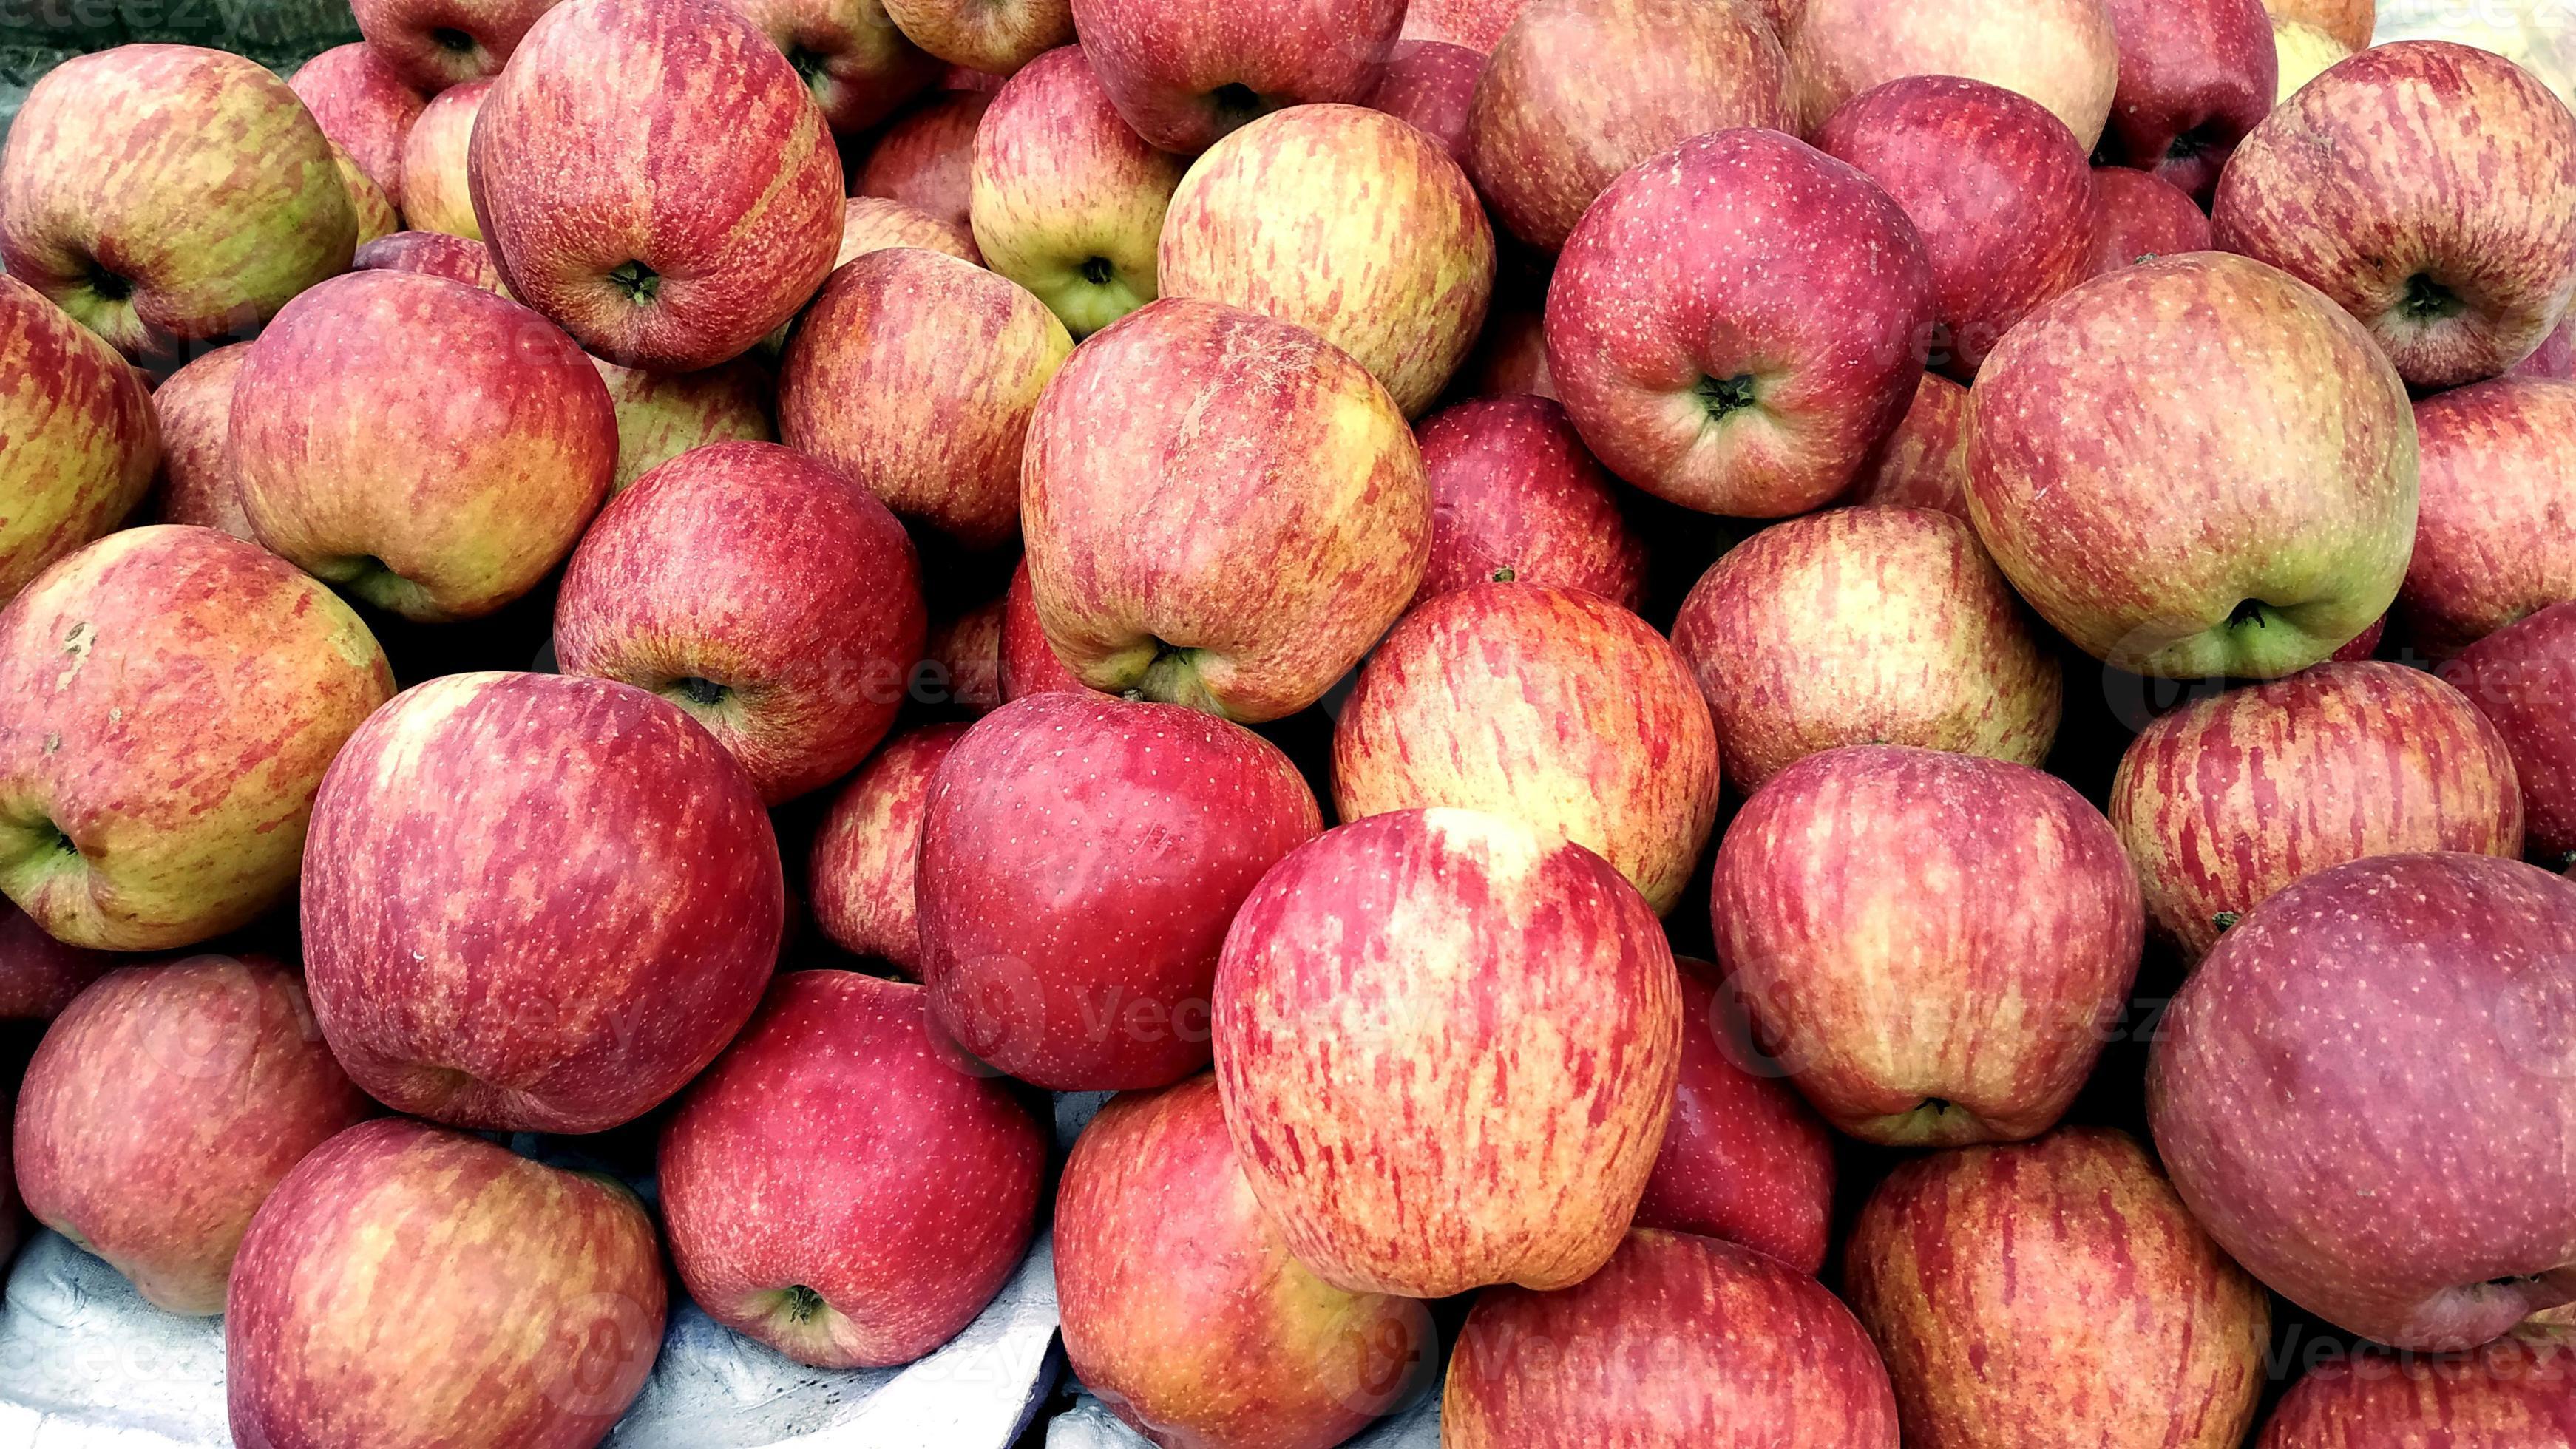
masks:
[[[1638,1228],[1726,1238],[1814,1274],[1834,1220],[1834,1135],[1765,1060],[1744,1004],[1682,957],[1682,1078]]]

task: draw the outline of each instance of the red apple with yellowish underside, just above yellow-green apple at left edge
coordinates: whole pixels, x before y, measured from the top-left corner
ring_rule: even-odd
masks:
[[[526,595],[608,494],[616,409],[544,317],[422,273],[348,273],[278,314],[232,386],[260,543],[412,620]]]

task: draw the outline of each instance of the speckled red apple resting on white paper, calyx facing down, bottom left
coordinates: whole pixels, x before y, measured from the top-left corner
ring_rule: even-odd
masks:
[[[781,975],[662,1130],[680,1282],[799,1364],[920,1359],[1028,1248],[1046,1138],[1010,1084],[938,1042],[922,996],[850,970]]]

